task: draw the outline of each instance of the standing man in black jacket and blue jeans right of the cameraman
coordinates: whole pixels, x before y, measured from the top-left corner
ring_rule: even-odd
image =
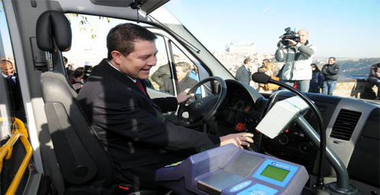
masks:
[[[336,87],[336,81],[339,77],[340,65],[335,63],[335,57],[329,57],[329,63],[323,65],[322,74],[325,77],[323,81],[322,93],[333,95],[333,91]]]

